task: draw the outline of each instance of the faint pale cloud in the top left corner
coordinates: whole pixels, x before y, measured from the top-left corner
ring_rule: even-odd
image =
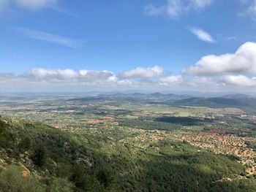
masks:
[[[39,9],[53,7],[58,0],[0,0],[0,11],[5,11],[9,7],[18,7],[37,11]]]

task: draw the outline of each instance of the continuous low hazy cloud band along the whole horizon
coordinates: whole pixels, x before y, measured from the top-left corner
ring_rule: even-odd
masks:
[[[222,82],[222,83],[220,83]],[[102,70],[33,68],[23,74],[0,73],[0,88],[14,91],[120,91],[140,89],[166,91],[167,88],[190,91],[229,91],[234,87],[251,91],[256,77],[224,75],[224,77],[190,77],[170,75],[162,77],[120,78],[118,73]]]

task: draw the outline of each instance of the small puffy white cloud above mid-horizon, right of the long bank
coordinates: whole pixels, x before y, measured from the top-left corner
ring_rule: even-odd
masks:
[[[122,78],[132,78],[132,77],[158,77],[164,73],[164,69],[159,66],[154,67],[137,67],[135,69],[124,71],[119,74]]]

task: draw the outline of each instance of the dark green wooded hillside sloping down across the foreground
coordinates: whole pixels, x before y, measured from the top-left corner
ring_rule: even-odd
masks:
[[[118,133],[115,133],[118,134]],[[116,135],[116,137],[120,137]],[[236,159],[162,140],[146,149],[107,134],[61,131],[0,118],[0,191],[253,191]],[[22,175],[26,166],[30,174]]]

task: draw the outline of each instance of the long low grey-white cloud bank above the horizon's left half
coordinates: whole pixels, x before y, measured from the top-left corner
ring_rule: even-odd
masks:
[[[23,74],[0,73],[0,88],[9,91],[103,91],[140,87],[138,81],[119,79],[113,72],[102,70],[33,68]]]

